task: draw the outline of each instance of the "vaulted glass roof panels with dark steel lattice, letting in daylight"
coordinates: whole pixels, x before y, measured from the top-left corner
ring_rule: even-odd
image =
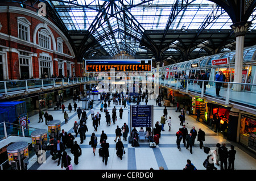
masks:
[[[207,0],[48,1],[68,31],[88,31],[110,56],[145,52],[145,31],[231,30],[229,15]],[[256,12],[250,16],[255,30]],[[154,47],[154,45],[152,45]]]

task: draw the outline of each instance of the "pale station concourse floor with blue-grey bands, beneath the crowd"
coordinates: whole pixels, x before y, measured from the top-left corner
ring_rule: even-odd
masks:
[[[53,110],[53,108],[48,108],[45,111],[48,111],[48,113],[51,113],[53,116],[53,120],[60,120],[61,121],[61,130],[64,129],[67,133],[72,133],[73,124],[75,121],[79,121],[77,113],[72,110],[69,112],[67,110],[68,104],[71,103],[73,107],[73,100],[67,100],[64,102],[65,105],[65,111],[68,112],[69,120],[68,123],[64,123],[64,116],[62,113],[62,110]],[[77,107],[82,107],[82,102],[78,102]],[[131,103],[132,105],[135,105]],[[144,102],[140,103],[141,105],[145,104]],[[160,125],[160,117],[163,115],[163,109],[164,106],[159,107],[155,106],[155,100],[149,99],[148,105],[154,105],[154,125],[156,121],[159,121]],[[113,101],[111,102],[111,107],[108,108],[110,115],[112,113],[113,109]],[[121,128],[123,123],[130,124],[130,121],[128,120],[127,116],[127,108],[123,108],[123,106],[115,106],[117,108],[117,117],[118,120],[116,121],[115,125],[112,124],[110,127],[106,127],[106,120],[105,120],[105,113],[100,111],[100,101],[94,101],[94,113],[100,112],[101,113],[101,121],[100,125],[98,126],[98,131],[94,132],[94,128],[92,126],[92,119],[90,116],[90,111],[86,110],[88,120],[87,120],[87,127],[88,132],[86,132],[86,139],[84,140],[83,144],[80,144],[80,137],[79,135],[75,138],[77,141],[77,144],[80,145],[82,149],[82,155],[79,157],[79,164],[74,164],[74,157],[73,154],[71,154],[70,149],[66,149],[69,156],[72,158],[72,165],[73,170],[149,170],[150,168],[154,170],[159,170],[159,167],[163,167],[164,170],[183,170],[184,166],[187,164],[187,159],[190,159],[193,165],[196,166],[197,170],[205,170],[205,167],[203,166],[204,160],[207,158],[206,153],[204,153],[203,149],[199,148],[199,141],[195,141],[195,146],[192,148],[192,153],[184,147],[183,141],[181,141],[181,150],[177,149],[176,145],[176,132],[179,131],[180,121],[178,116],[180,115],[180,112],[175,112],[175,107],[167,107],[168,115],[172,117],[172,125],[171,125],[171,131],[168,132],[168,125],[167,123],[164,125],[164,130],[161,132],[161,137],[159,139],[159,145],[156,146],[156,148],[149,148],[148,141],[141,140],[139,141],[140,146],[139,147],[132,147],[129,143],[128,139],[127,141],[122,142],[125,146],[126,154],[123,155],[122,160],[117,157],[116,150],[115,150],[115,129],[116,126],[119,125]],[[123,119],[119,119],[119,108],[123,108]],[[43,117],[44,118],[44,117]],[[38,114],[34,116],[30,116],[30,124],[29,127],[33,128],[40,128],[40,129],[47,129],[48,127],[45,124],[45,121],[43,123],[38,123],[39,116]],[[222,144],[223,142],[226,143],[226,147],[228,150],[230,149],[230,145],[235,146],[236,153],[236,159],[234,162],[234,169],[235,170],[255,170],[256,169],[256,154],[252,153],[252,151],[247,150],[246,148],[243,148],[240,144],[237,144],[236,142],[230,142],[226,140],[224,136],[222,136],[221,133],[215,133],[211,128],[209,128],[207,125],[197,122],[195,118],[192,116],[186,115],[185,116],[185,125],[188,129],[188,132],[192,129],[192,127],[195,127],[197,132],[199,128],[201,128],[205,132],[205,141],[204,144],[208,147],[210,147],[211,150],[214,150],[216,148],[216,144],[219,142]],[[130,128],[130,125],[129,125]],[[133,128],[132,128],[133,129]],[[137,128],[137,131],[139,131],[140,128]],[[104,132],[108,136],[107,142],[109,142],[109,158],[108,158],[108,165],[105,165],[105,163],[102,162],[102,157],[98,155],[98,149],[100,148],[100,144],[98,143],[96,148],[96,155],[93,154],[93,149],[89,145],[90,136],[94,132],[98,138],[98,142],[100,141],[100,135],[101,131],[104,130]],[[145,128],[144,128],[145,130]],[[75,133],[72,133],[75,136]],[[53,161],[51,159],[51,155],[49,154],[49,151],[47,151],[46,154],[46,162],[45,163],[38,163],[36,159],[36,155],[31,157],[29,159],[28,164],[28,170],[64,170],[61,169],[61,165],[57,166],[57,159]],[[217,166],[214,164],[214,166],[217,167],[218,170],[220,170],[220,166]]]

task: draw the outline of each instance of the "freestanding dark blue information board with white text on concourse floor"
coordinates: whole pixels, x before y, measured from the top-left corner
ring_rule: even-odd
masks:
[[[132,127],[151,127],[152,106],[151,105],[132,105],[131,106],[131,126]]]

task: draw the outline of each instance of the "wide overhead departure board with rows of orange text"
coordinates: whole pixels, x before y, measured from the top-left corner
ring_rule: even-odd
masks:
[[[147,72],[152,69],[152,60],[86,60],[86,72],[115,71]]]

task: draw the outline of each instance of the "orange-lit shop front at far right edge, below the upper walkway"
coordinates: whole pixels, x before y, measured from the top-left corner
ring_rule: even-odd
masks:
[[[241,114],[240,143],[256,152],[256,118]]]

